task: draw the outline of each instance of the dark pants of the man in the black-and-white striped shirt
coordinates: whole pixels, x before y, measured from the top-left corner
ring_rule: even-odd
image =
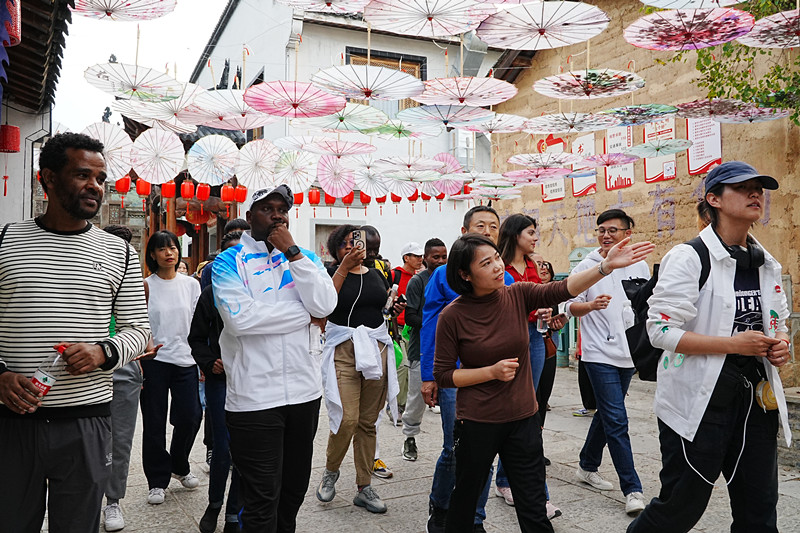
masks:
[[[110,416],[0,418],[0,531],[97,531],[110,474]]]

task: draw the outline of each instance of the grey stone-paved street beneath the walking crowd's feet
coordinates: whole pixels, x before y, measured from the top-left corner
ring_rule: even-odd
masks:
[[[646,498],[656,494],[660,454],[656,419],[652,414],[652,383],[634,377],[628,398],[628,414],[637,470],[644,484]],[[574,480],[578,452],[591,422],[591,418],[572,416],[579,407],[580,395],[577,374],[568,368],[558,369],[552,411],[547,416],[544,431],[545,453],[551,459],[548,468],[548,484],[553,503],[564,515],[553,521],[555,530],[567,532],[623,532],[630,522],[624,512],[624,499],[618,490],[599,492]],[[140,424],[141,426],[141,424]],[[403,436],[401,428],[393,427],[384,417],[380,428],[381,455],[394,471],[388,480],[374,479],[374,487],[387,503],[389,510],[384,515],[373,515],[355,507],[355,471],[352,455],[342,466],[342,475],[337,483],[337,495],[327,504],[317,501],[314,489],[319,483],[325,464],[327,440],[327,417],[320,416],[317,433],[311,486],[298,518],[297,531],[311,532],[387,532],[421,533],[427,520],[428,492],[434,464],[441,448],[441,426],[439,415],[430,410],[425,413],[422,433],[417,437],[419,460],[404,461],[401,458]],[[207,503],[208,475],[205,468],[205,448],[202,435],[198,436],[192,454],[193,471],[200,477],[200,488],[185,490],[173,481],[167,491],[163,505],[146,503],[147,482],[142,473],[140,431],[134,443],[127,497],[122,501],[127,526],[125,532],[192,532],[198,531],[197,522]],[[600,469],[606,479],[618,487],[618,480],[606,452]],[[800,531],[800,472],[782,468],[780,476],[781,499],[778,507],[778,525],[783,532]],[[501,498],[490,497],[487,505],[486,530],[489,532],[519,531],[514,509],[505,505]],[[693,531],[721,533],[730,531],[730,510],[724,488],[714,489],[714,495],[705,516]],[[217,529],[221,531],[222,526]],[[102,531],[102,527],[101,527]]]

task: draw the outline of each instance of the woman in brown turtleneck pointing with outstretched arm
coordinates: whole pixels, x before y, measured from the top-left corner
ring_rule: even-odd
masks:
[[[489,466],[500,454],[520,529],[553,531],[547,518],[542,431],[533,390],[528,316],[580,294],[621,268],[644,259],[653,245],[616,245],[596,269],[547,285],[504,286],[505,264],[494,242],[467,234],[447,261],[447,282],[460,294],[439,316],[434,376],[440,387],[458,387],[456,486],[445,531],[472,529],[475,506]],[[502,320],[498,320],[502,317]],[[458,366],[461,362],[461,367]]]

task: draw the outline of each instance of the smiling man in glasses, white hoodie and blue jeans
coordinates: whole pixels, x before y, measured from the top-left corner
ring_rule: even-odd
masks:
[[[573,272],[595,268],[606,277],[566,305],[569,315],[583,317],[581,361],[597,399],[597,414],[586,435],[576,477],[598,490],[613,488],[597,472],[603,448],[608,444],[620,489],[625,495],[625,512],[629,515],[640,513],[645,501],[642,483],[633,464],[625,411],[625,395],[636,368],[625,339],[625,329],[633,325],[634,317],[622,280],[649,278],[650,270],[644,261],[640,261],[607,274],[603,261],[614,245],[631,236],[633,226],[633,219],[621,209],[609,209],[597,217],[595,231],[600,248],[590,253]]]

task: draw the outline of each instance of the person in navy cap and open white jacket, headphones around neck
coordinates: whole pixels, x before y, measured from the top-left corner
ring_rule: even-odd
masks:
[[[664,349],[655,397],[662,486],[628,533],[689,531],[720,473],[731,531],[778,531],[778,420],[787,444],[791,431],[777,367],[789,359],[789,310],[780,264],[748,233],[763,215],[763,189],[778,183],[739,161],[705,181],[708,281],[698,287],[699,252],[680,244],[649,300],[650,340]]]

